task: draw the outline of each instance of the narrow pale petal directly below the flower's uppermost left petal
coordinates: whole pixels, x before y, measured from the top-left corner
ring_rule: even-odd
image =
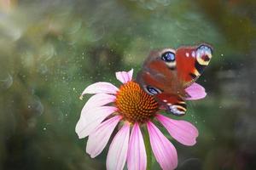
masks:
[[[84,113],[90,108],[107,105],[113,102],[115,99],[116,97],[111,94],[95,94],[91,96],[84,105],[84,108],[82,109],[82,115],[84,115]]]

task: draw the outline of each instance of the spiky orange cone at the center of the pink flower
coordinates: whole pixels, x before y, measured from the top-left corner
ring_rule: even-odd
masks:
[[[119,88],[115,104],[118,112],[128,122],[147,122],[152,118],[159,105],[152,95],[140,88],[137,82],[127,82]]]

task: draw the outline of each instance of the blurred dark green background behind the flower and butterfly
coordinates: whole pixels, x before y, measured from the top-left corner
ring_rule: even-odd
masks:
[[[208,42],[207,98],[184,119],[197,144],[177,169],[256,169],[256,1],[0,0],[0,169],[105,169],[74,131],[93,82],[141,68],[151,49]],[[153,169],[159,169],[154,163]]]

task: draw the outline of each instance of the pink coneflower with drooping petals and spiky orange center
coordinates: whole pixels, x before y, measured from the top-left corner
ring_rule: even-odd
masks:
[[[84,89],[82,95],[95,95],[84,105],[76,133],[79,139],[89,136],[86,152],[94,158],[108,144],[114,128],[119,124],[119,131],[108,150],[107,169],[123,169],[127,161],[129,170],[145,170],[147,154],[140,128],[147,127],[156,161],[162,169],[175,169],[177,151],[154,122],[160,122],[173,139],[184,145],[194,145],[198,131],[189,122],[160,115],[160,105],[132,80],[132,73],[133,70],[116,72],[117,79],[123,83],[119,88],[109,82],[96,82]],[[186,88],[186,92],[190,95],[189,99],[206,96],[205,89],[197,83]]]

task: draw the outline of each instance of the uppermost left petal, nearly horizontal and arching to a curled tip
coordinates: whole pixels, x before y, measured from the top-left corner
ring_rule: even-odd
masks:
[[[96,82],[84,89],[84,94],[116,94],[119,88],[116,88],[110,82]]]

